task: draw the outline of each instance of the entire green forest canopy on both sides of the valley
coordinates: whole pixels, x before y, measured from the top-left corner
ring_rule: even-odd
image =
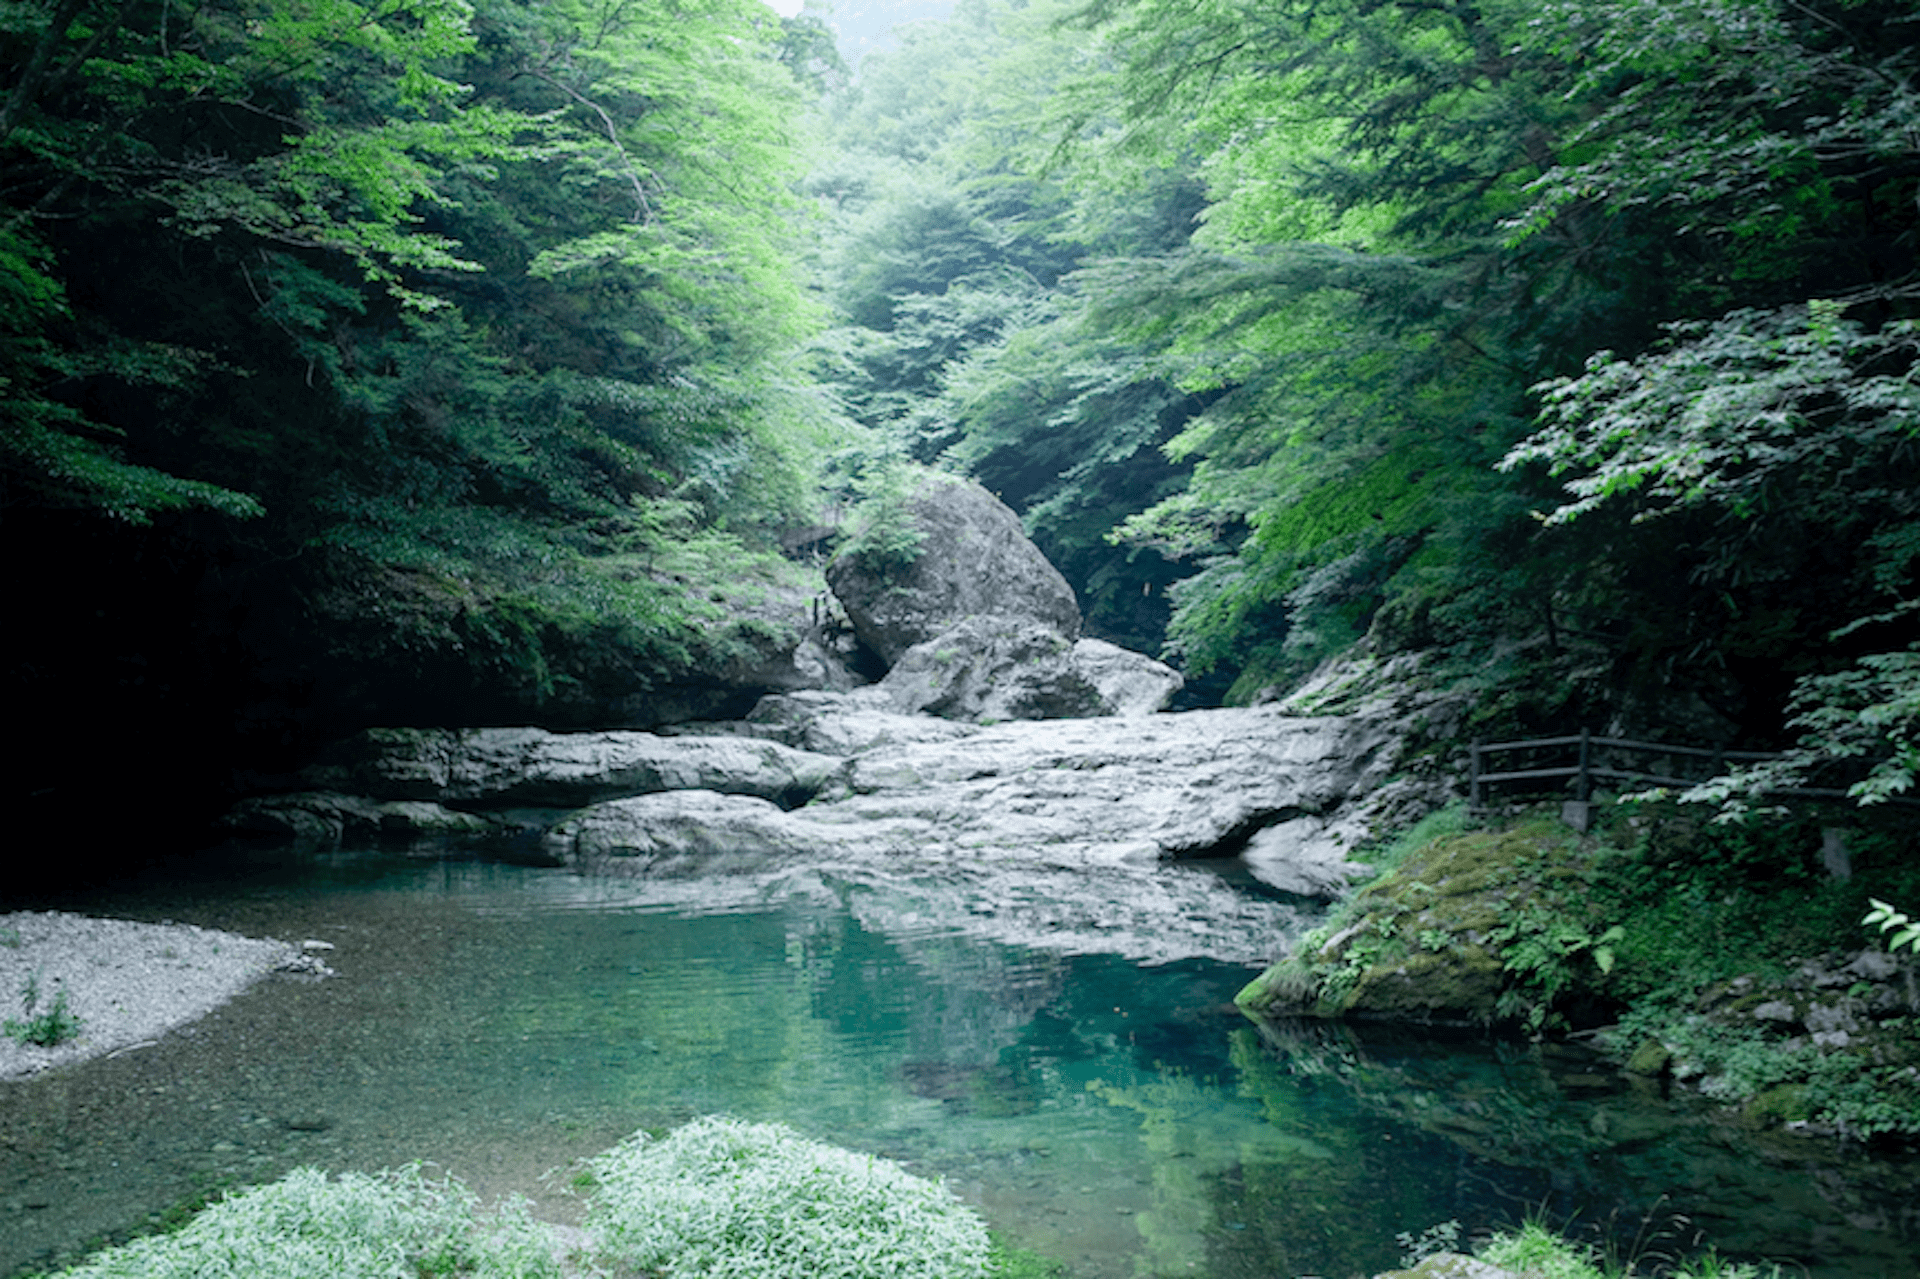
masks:
[[[910,461],[1198,699],[1425,651],[1893,793],[1916,21],[962,0],[852,73],[758,0],[10,2],[0,526],[98,601],[10,676],[227,757],[664,718]]]

